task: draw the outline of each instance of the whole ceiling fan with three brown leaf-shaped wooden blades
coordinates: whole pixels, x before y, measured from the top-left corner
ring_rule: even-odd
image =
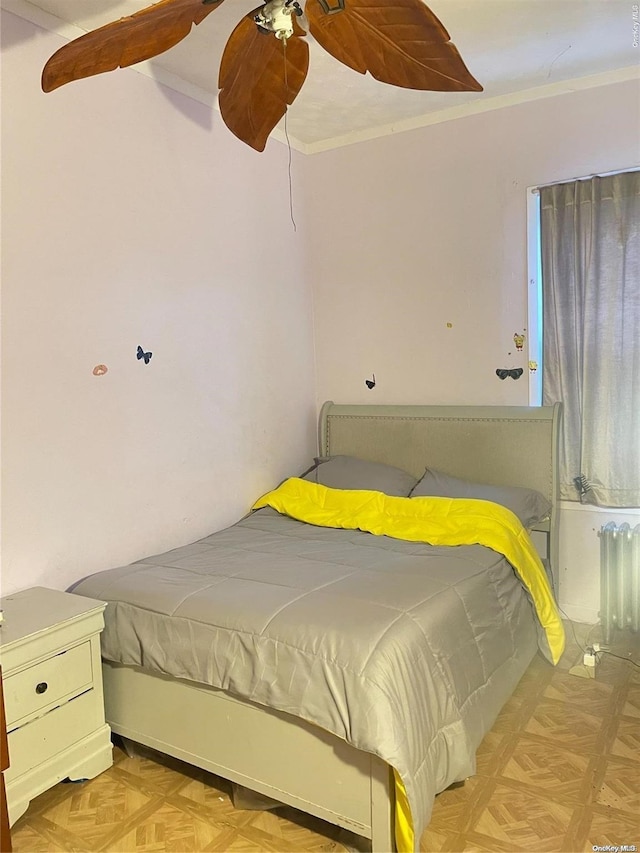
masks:
[[[223,0],[160,0],[60,48],[42,72],[51,92],[72,80],[151,59],[182,41]],[[482,91],[449,34],[422,0],[269,0],[231,33],[218,76],[232,133],[256,151],[307,76],[309,45],[298,23],[340,62],[383,83],[439,92]]]

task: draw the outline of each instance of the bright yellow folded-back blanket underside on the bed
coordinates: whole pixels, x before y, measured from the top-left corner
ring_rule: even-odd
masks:
[[[491,501],[467,498],[397,498],[382,492],[329,489],[292,477],[259,498],[253,509],[270,506],[319,527],[363,530],[430,545],[485,545],[503,554],[529,591],[544,629],[553,663],[564,650],[564,628],[549,581],[529,534],[517,516]],[[402,780],[396,779],[396,843],[413,850],[411,814]]]

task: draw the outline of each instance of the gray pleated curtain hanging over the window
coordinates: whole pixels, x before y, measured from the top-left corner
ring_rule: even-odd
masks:
[[[640,172],[540,190],[543,402],[560,497],[640,506]]]

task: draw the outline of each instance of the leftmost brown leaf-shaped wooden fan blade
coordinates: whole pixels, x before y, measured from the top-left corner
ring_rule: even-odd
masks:
[[[124,68],[163,53],[191,32],[222,0],[160,0],[134,15],[75,39],[49,59],[42,88],[51,92],[72,80]]]

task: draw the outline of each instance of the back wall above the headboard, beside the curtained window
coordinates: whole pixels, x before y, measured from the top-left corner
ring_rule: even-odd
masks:
[[[319,401],[526,404],[526,375],[495,375],[527,366],[526,188],[636,164],[639,95],[576,92],[305,161]]]

